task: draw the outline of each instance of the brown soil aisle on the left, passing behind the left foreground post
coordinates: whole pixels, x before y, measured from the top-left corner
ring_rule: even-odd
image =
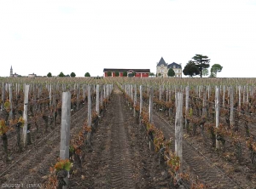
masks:
[[[78,112],[73,112],[71,135],[79,132],[86,117],[87,106],[83,106]],[[46,175],[49,175],[49,168],[54,165],[60,154],[60,129],[60,125],[56,125],[56,128],[49,129],[48,133],[40,132],[32,135],[32,145],[27,146],[20,153],[11,151],[13,159],[9,163],[3,163],[2,159],[0,186],[2,188],[15,188],[15,185],[17,188],[42,187],[47,180]],[[9,146],[15,146],[14,138],[10,137]]]

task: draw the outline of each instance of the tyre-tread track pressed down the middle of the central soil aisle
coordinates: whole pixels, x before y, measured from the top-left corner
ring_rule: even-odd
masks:
[[[110,157],[113,159],[111,163],[111,188],[135,188],[132,178],[131,153],[129,151],[128,139],[125,132],[125,123],[122,111],[120,95],[117,95],[115,103],[118,108],[114,109],[118,119],[113,119],[111,124],[111,144]]]

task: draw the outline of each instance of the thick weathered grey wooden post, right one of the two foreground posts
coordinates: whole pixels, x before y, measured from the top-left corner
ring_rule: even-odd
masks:
[[[183,169],[183,93],[177,93],[177,107],[175,116],[175,153],[180,160],[180,166],[177,171],[177,180]]]

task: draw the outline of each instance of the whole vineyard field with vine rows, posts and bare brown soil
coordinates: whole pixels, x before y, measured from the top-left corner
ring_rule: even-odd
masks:
[[[0,81],[3,188],[256,188],[256,79]]]

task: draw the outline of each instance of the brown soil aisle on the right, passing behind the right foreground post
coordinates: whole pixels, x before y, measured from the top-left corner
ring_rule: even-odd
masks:
[[[173,120],[165,113],[154,112],[154,124],[166,138],[174,138]],[[201,137],[200,132],[198,130],[197,135],[183,133],[183,171],[198,178],[207,188],[256,188],[256,172],[252,163],[248,163],[246,158],[238,163],[234,154],[217,151],[211,147],[211,141],[205,139],[209,136]],[[226,143],[226,146],[234,148],[229,141]],[[249,154],[243,152],[243,156],[249,157]]]

